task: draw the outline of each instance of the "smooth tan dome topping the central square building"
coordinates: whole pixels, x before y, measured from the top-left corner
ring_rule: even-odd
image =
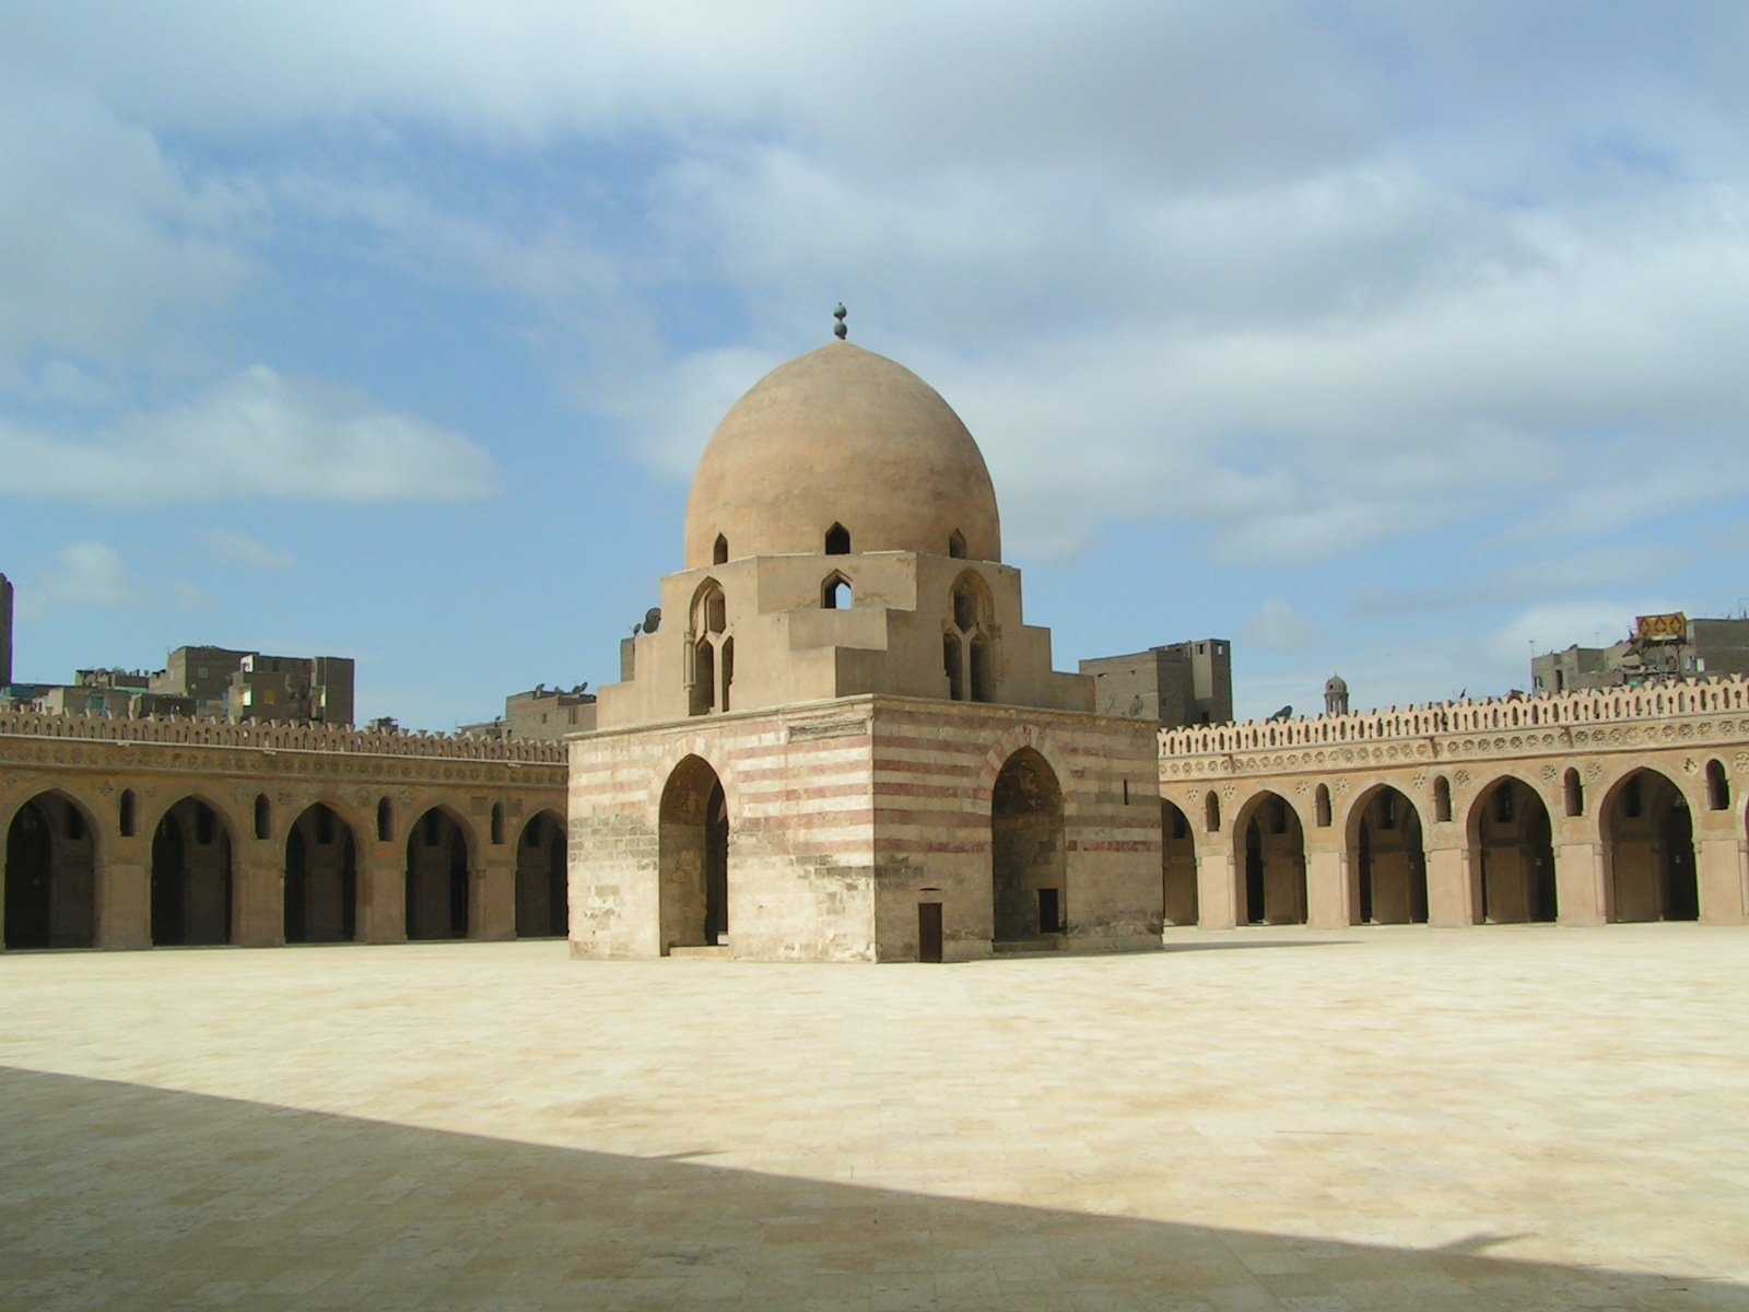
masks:
[[[686,507],[686,567],[850,551],[1002,558],[995,488],[960,416],[922,378],[848,341],[780,364],[717,425]],[[950,549],[950,542],[953,544]]]

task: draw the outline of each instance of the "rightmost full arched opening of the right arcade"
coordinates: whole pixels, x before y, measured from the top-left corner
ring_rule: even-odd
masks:
[[[1611,920],[1698,920],[1695,824],[1688,798],[1656,770],[1635,770],[1604,801]]]

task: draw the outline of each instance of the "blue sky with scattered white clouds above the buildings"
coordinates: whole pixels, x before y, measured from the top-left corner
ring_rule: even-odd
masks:
[[[1744,68],[1740,0],[9,0],[16,677],[612,682],[838,301],[1058,668],[1223,637],[1240,717],[1364,708],[1740,614]]]

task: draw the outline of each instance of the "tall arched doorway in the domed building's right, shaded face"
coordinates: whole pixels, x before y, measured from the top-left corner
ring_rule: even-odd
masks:
[[[990,794],[993,938],[1020,943],[1067,932],[1069,854],[1063,789],[1032,747],[1002,764]]]

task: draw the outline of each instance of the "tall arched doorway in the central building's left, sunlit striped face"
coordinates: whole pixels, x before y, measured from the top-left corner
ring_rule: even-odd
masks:
[[[729,808],[717,771],[687,756],[668,775],[658,826],[661,950],[729,941]]]

